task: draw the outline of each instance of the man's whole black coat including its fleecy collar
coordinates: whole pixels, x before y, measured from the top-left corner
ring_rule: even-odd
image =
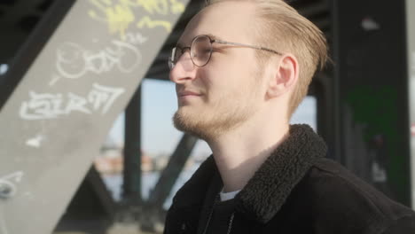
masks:
[[[415,234],[410,208],[325,155],[324,141],[309,126],[291,126],[290,136],[233,199],[235,211],[227,232]],[[211,156],[177,191],[164,233],[203,234],[222,187]]]

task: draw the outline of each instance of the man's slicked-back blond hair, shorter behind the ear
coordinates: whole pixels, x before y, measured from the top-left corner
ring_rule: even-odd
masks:
[[[210,0],[206,7],[224,1]],[[237,0],[235,2],[241,2]],[[325,35],[311,21],[301,16],[283,0],[244,0],[256,5],[256,40],[259,45],[276,51],[290,52],[298,59],[299,78],[290,99],[288,118],[307,95],[309,83],[317,70],[322,70],[328,59]],[[270,53],[258,51],[260,62],[270,58]]]

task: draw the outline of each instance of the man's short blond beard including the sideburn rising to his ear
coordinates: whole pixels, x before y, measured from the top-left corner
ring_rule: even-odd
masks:
[[[176,129],[207,142],[246,123],[258,110],[258,87],[262,85],[263,67],[248,76],[251,83],[231,90],[206,106],[179,106],[173,116]],[[245,77],[247,78],[247,77]]]

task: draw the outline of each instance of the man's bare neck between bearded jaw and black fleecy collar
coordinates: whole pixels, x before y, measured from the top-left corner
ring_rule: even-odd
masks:
[[[288,136],[286,121],[258,120],[246,122],[209,144],[215,157],[216,166],[223,180],[223,191],[241,190]]]

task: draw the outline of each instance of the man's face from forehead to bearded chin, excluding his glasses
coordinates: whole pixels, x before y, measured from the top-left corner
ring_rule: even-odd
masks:
[[[254,22],[253,4],[214,4],[192,19],[178,44],[190,47],[197,35],[256,44]],[[264,98],[258,75],[255,50],[250,48],[213,43],[212,57],[202,67],[194,66],[185,51],[170,72],[178,99],[176,128],[209,140],[246,123]]]

